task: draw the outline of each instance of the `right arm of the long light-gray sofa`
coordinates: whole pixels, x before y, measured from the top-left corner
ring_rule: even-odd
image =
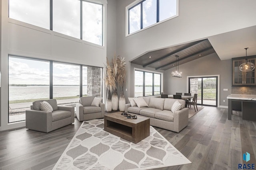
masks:
[[[182,108],[173,114],[174,131],[179,132],[188,125],[188,108]]]

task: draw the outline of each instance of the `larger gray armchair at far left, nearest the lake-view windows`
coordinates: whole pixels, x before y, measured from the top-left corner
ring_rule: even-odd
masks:
[[[74,123],[74,107],[57,106],[57,101],[50,99],[45,101],[52,106],[53,111],[42,111],[40,110],[40,102],[43,101],[33,102],[33,105],[30,106],[31,109],[26,110],[26,128],[48,133]]]

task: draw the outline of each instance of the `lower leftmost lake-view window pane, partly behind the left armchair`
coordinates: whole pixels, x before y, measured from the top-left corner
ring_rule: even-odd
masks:
[[[49,99],[49,62],[9,57],[9,123],[25,120],[32,102]]]

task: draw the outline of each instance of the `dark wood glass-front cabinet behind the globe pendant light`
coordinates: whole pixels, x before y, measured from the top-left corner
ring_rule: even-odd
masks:
[[[248,57],[252,57],[248,58],[248,62],[254,63],[255,65],[256,58],[253,57],[256,56]],[[242,72],[239,69],[239,66],[245,63],[245,58],[242,58],[243,59],[241,59],[241,57],[232,59],[232,86],[256,86],[255,69],[250,72]]]

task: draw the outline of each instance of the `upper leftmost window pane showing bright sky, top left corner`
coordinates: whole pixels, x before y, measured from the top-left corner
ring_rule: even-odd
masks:
[[[9,17],[50,29],[50,0],[9,0]]]

